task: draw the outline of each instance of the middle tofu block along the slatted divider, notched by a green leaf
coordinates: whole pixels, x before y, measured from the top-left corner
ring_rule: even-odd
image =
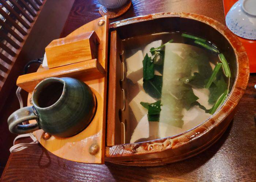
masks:
[[[157,100],[155,100],[154,98],[152,98],[151,96],[149,96],[148,94],[146,94],[146,92],[144,92],[142,90],[135,96],[135,98],[133,98],[131,100],[131,102],[129,103],[129,106],[131,107],[131,110],[132,110],[137,122],[139,122],[139,120],[145,114],[147,114],[147,109],[144,108],[142,105],[140,105],[140,102],[153,103],[156,101]]]

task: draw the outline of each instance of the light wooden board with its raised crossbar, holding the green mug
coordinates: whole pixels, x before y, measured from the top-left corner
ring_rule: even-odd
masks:
[[[99,22],[103,24],[99,25]],[[108,53],[108,18],[101,17],[82,27],[76,29],[74,32],[70,33],[68,36],[79,35],[84,32],[95,31],[100,39],[99,49],[98,49],[98,60],[88,60],[85,62],[75,63],[68,66],[58,67],[50,69],[50,76],[63,77],[69,76],[82,80],[84,83],[90,86],[94,92],[97,99],[97,111],[96,114],[89,124],[89,126],[84,129],[79,134],[68,137],[68,138],[58,138],[50,137],[50,139],[45,140],[42,138],[44,134],[43,130],[37,130],[34,132],[35,137],[38,139],[39,143],[45,147],[48,151],[57,155],[58,157],[68,159],[76,162],[84,163],[104,163],[105,157],[105,124],[106,124],[106,71],[108,69],[107,64],[107,53]],[[67,36],[67,37],[68,37]],[[101,66],[97,66],[97,62]],[[77,66],[77,67],[75,67]],[[65,69],[68,67],[68,69]],[[70,67],[75,67],[72,70]],[[59,71],[52,71],[54,69],[59,69]],[[90,70],[90,71],[89,71]],[[37,83],[46,76],[38,74],[38,72],[45,71],[44,68],[40,67],[33,76],[37,78],[32,80],[32,83]],[[80,72],[79,72],[80,71]],[[89,73],[88,73],[89,72]],[[78,73],[78,74],[77,74]],[[38,77],[36,77],[36,76]],[[90,76],[93,75],[93,76]],[[96,76],[95,78],[95,75]],[[27,75],[26,75],[27,76]],[[31,75],[28,74],[28,79]],[[23,77],[24,78],[24,77]],[[27,82],[26,78],[24,78]],[[31,77],[30,77],[31,79]],[[36,81],[37,80],[37,81]],[[20,80],[21,82],[21,80]],[[19,82],[19,83],[20,83]],[[36,84],[35,84],[36,85]],[[29,90],[31,91],[31,89]],[[31,98],[31,92],[28,96],[28,106],[31,105],[29,100]],[[36,122],[35,120],[30,121],[30,123]],[[99,151],[97,154],[92,155],[89,153],[90,147],[94,144],[99,146]]]

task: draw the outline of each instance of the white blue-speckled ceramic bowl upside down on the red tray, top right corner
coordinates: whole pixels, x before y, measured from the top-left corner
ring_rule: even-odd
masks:
[[[227,27],[236,35],[256,40],[256,0],[239,0],[226,16]]]

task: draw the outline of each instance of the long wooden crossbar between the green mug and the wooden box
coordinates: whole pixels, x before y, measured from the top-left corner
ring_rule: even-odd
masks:
[[[86,80],[101,78],[105,76],[105,70],[97,59],[70,64],[67,66],[52,68],[41,72],[21,75],[17,79],[17,85],[27,92],[32,92],[35,86],[45,78],[49,77],[83,77]]]

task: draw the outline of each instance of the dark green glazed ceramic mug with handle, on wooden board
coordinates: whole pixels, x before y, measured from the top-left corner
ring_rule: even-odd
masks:
[[[74,78],[46,78],[34,89],[33,106],[23,107],[8,118],[9,130],[25,134],[42,129],[57,137],[71,137],[93,119],[96,98],[87,84]],[[27,120],[37,123],[22,125]]]

